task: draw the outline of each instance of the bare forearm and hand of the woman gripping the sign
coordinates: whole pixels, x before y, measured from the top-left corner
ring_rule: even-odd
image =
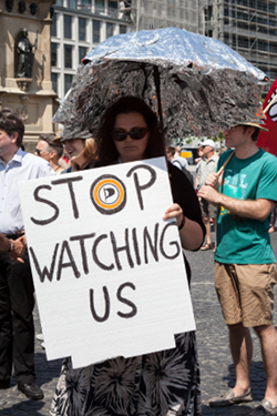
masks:
[[[170,206],[163,216],[163,220],[176,219],[177,225],[181,226],[184,220],[184,225],[179,230],[179,237],[182,246],[185,250],[196,250],[203,242],[203,230],[196,221],[192,221],[184,216],[183,211],[178,204]]]

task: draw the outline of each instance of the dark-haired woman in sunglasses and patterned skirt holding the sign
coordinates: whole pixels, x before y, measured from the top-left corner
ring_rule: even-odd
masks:
[[[156,115],[138,98],[122,98],[107,109],[96,141],[99,166],[164,155]],[[205,227],[197,196],[182,171],[168,164],[168,174],[174,204],[165,207],[163,219],[176,219],[182,246],[198,250]],[[187,262],[186,272],[189,278]],[[172,349],[117,357],[79,369],[72,369],[66,358],[51,415],[199,416],[195,333],[175,335],[175,343]]]

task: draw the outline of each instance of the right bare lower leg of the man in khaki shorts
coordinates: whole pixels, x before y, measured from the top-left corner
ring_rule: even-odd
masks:
[[[267,387],[265,398],[277,406],[277,332],[274,325],[254,327],[259,337],[261,356],[266,372]]]

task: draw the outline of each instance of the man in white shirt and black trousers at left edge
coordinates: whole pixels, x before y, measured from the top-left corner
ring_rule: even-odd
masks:
[[[54,175],[51,165],[21,149],[24,124],[10,109],[0,111],[0,232],[11,241],[24,233],[17,183]],[[23,263],[0,253],[0,388],[8,388],[12,363],[18,388],[30,399],[42,399],[34,384],[33,282],[28,251]]]

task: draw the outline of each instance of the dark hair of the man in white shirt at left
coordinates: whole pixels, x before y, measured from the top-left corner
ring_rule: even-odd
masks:
[[[17,146],[21,146],[25,128],[21,116],[16,111],[8,108],[0,111],[0,129],[8,135],[18,133]]]

